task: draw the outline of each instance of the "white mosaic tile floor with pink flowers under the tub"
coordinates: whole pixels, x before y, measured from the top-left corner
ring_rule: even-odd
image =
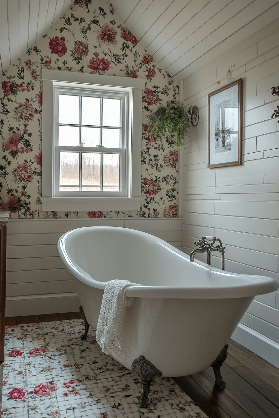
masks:
[[[101,352],[84,323],[6,326],[1,418],[207,418],[170,378],[151,385],[139,409],[138,376]]]

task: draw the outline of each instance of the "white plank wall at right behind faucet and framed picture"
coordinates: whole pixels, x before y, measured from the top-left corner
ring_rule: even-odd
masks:
[[[279,123],[271,119],[279,105],[271,95],[279,85],[278,36],[279,19],[184,79],[185,104],[199,107],[200,120],[182,150],[181,187],[184,252],[213,235],[226,247],[226,270],[279,283]],[[232,81],[243,80],[243,162],[209,169],[207,94],[228,84],[230,68]],[[220,268],[220,257],[212,259]],[[278,291],[255,298],[233,338],[279,367]]]

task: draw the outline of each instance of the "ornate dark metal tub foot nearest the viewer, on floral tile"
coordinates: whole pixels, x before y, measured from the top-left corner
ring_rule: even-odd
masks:
[[[162,373],[143,356],[139,356],[138,359],[134,359],[132,363],[132,370],[139,375],[141,383],[143,384],[141,397],[139,399],[139,407],[146,408],[151,382],[155,379],[155,377],[160,377]]]

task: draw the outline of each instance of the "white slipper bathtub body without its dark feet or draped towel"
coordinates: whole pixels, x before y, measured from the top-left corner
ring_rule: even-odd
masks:
[[[74,275],[87,322],[96,329],[108,280],[129,280],[125,332],[131,370],[143,355],[162,376],[207,369],[233,334],[254,296],[275,291],[272,278],[229,273],[189,256],[153,235],[118,227],[85,227],[58,242]]]

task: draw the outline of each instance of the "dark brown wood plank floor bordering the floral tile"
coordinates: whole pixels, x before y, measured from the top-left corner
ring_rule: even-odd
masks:
[[[6,318],[6,325],[79,319],[79,312]],[[221,367],[224,390],[214,388],[212,368],[175,382],[209,418],[279,418],[279,370],[233,340]]]

